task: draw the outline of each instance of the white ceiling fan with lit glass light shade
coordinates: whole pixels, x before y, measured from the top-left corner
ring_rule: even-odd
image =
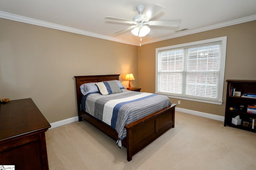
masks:
[[[178,27],[180,25],[180,21],[151,21],[152,18],[154,18],[164,10],[164,6],[155,4],[147,5],[146,10],[145,8],[146,5],[144,4],[139,4],[138,6],[136,6],[139,15],[135,16],[133,20],[126,20],[111,16],[108,16],[105,19],[118,23],[133,24],[124,29],[120,29],[119,31],[114,32],[114,34],[120,34],[131,30],[132,34],[138,37],[144,37],[150,32],[150,27],[148,27],[148,25],[165,27]]]

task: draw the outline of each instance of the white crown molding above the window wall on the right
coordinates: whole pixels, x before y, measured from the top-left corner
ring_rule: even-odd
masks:
[[[146,41],[143,44],[149,44],[149,43],[155,43],[158,41],[163,41],[163,40],[167,40],[167,39],[172,39],[172,38],[176,38],[176,37],[182,37],[184,35],[190,35],[190,34],[194,34],[194,33],[200,33],[203,31],[209,31],[212,29],[217,29],[217,28],[222,28],[222,27],[227,27],[230,25],[236,25],[239,23],[244,23],[244,22],[249,22],[249,21],[254,21],[256,20],[256,15],[252,15],[252,16],[248,16],[248,17],[244,17],[244,18],[239,18],[236,20],[231,20],[231,21],[227,21],[227,22],[222,22],[222,23],[218,23],[218,24],[214,24],[214,25],[209,25],[206,27],[201,27],[201,28],[197,28],[197,29],[191,29],[191,30],[186,30],[186,31],[181,31],[178,33],[174,33],[170,36],[165,36],[159,39],[154,39],[152,41]]]

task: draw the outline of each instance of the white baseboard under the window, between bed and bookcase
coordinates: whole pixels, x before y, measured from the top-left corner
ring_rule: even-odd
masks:
[[[214,115],[214,114],[210,114],[210,113],[204,113],[204,112],[194,111],[194,110],[189,110],[189,109],[183,109],[180,107],[175,107],[175,110],[183,112],[183,113],[188,113],[191,115],[197,115],[197,116],[206,117],[209,119],[218,120],[218,121],[224,121],[224,119],[225,119],[224,116],[219,116],[219,115]]]

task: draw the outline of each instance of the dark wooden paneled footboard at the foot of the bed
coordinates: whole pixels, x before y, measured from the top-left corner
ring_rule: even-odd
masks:
[[[138,151],[174,127],[175,106],[176,104],[172,104],[125,126],[128,161],[132,160],[132,156]]]

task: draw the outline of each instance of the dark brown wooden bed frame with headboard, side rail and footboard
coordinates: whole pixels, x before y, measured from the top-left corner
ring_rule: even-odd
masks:
[[[74,76],[76,78],[76,97],[79,121],[85,119],[116,141],[118,140],[118,134],[112,127],[92,117],[89,113],[81,111],[82,93],[80,91],[80,86],[89,82],[119,80],[119,76],[120,74]],[[124,141],[122,141],[122,145],[127,149],[128,161],[132,160],[132,156],[138,151],[142,150],[160,135],[168,131],[168,129],[174,127],[175,106],[176,104],[172,104],[172,106],[165,107],[164,109],[161,109],[125,126],[126,138]]]

